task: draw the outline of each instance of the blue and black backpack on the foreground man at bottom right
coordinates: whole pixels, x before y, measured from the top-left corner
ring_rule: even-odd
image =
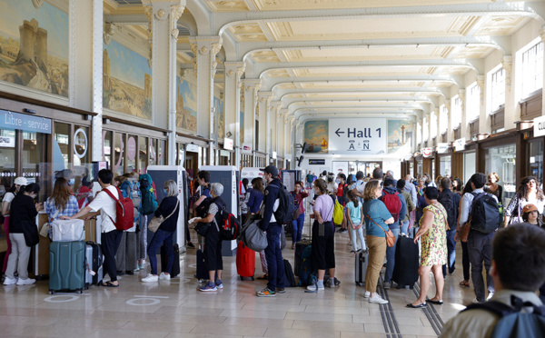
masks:
[[[498,301],[471,304],[463,311],[481,309],[500,317],[490,337],[545,337],[545,306],[523,303],[511,295],[513,306]],[[520,313],[522,307],[531,307],[533,313]]]

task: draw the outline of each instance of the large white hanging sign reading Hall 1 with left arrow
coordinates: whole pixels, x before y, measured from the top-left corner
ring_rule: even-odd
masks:
[[[386,138],[386,119],[329,120],[329,154],[385,154]]]

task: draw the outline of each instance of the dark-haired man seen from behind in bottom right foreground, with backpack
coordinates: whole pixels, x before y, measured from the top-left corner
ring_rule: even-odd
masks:
[[[441,338],[544,337],[545,307],[536,291],[545,280],[545,231],[515,224],[492,242],[490,275],[496,293],[447,322]]]

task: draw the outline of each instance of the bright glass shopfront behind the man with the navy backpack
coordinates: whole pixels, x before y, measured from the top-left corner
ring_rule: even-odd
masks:
[[[503,205],[509,204],[516,193],[516,145],[506,144],[484,149],[486,173],[500,176],[498,184],[503,186]]]

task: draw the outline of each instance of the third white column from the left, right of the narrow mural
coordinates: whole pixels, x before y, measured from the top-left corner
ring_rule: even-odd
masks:
[[[213,75],[215,55],[222,48],[220,36],[190,36],[189,42],[197,61],[197,134],[213,139]],[[210,165],[215,164],[214,143],[210,141]]]

